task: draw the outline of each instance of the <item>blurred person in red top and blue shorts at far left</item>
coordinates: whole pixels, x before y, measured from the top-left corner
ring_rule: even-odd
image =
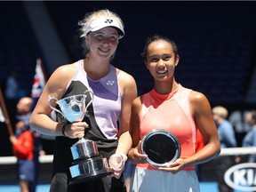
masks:
[[[15,124],[15,135],[10,136],[14,156],[17,157],[17,174],[21,192],[31,192],[34,180],[34,139],[29,130],[28,120],[33,100],[21,98],[17,104],[18,123]]]

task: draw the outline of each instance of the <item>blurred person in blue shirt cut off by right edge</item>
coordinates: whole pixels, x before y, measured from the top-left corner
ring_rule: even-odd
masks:
[[[243,140],[243,147],[256,147],[256,111],[249,111],[246,115],[246,122],[250,125],[251,129],[246,133]],[[256,155],[249,156],[249,162],[255,162]]]

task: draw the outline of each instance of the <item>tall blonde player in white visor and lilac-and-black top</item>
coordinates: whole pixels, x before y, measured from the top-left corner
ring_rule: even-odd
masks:
[[[51,191],[125,191],[120,177],[124,170],[122,167],[111,167],[112,177],[95,177],[69,185],[72,180],[69,167],[74,160],[70,147],[79,138],[96,141],[100,156],[107,159],[117,156],[112,158],[114,164],[121,156],[124,164],[132,145],[128,132],[131,103],[137,95],[133,77],[110,63],[119,39],[124,36],[124,24],[119,16],[108,10],[100,10],[88,13],[78,24],[84,38],[85,58],[63,65],[52,73],[32,113],[30,126],[37,132],[56,136]],[[94,97],[92,100],[87,95],[86,104],[90,100],[92,104],[82,121],[65,124],[60,120],[59,113],[57,121],[52,121],[49,117],[52,112],[48,104],[49,95],[60,100],[83,94],[86,90],[92,90]]]

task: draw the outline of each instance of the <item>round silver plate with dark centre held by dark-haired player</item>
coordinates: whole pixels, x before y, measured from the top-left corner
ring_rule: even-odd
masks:
[[[148,132],[141,140],[142,154],[148,155],[146,161],[155,167],[164,167],[180,157],[180,142],[171,133],[161,129]]]

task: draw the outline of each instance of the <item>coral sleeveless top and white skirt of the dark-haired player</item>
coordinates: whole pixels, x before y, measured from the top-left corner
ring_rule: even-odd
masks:
[[[153,129],[164,129],[180,141],[180,158],[193,156],[196,153],[197,128],[190,112],[190,92],[179,84],[177,90],[170,94],[159,94],[153,89],[142,95],[140,140]],[[131,191],[199,192],[195,165],[173,174],[149,164],[137,164]]]

